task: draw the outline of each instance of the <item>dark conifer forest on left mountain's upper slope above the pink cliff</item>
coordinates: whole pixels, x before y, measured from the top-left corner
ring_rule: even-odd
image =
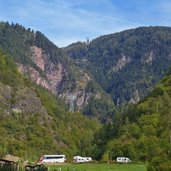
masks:
[[[17,63],[30,65],[39,72],[40,68],[32,61],[31,46],[42,48],[44,52],[54,63],[62,62],[68,66],[70,60],[66,55],[49,41],[42,33],[26,30],[19,24],[0,23],[0,48],[10,54]],[[43,74],[43,73],[41,73]]]

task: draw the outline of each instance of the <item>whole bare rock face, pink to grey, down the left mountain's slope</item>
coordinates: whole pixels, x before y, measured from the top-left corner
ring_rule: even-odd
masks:
[[[31,66],[18,64],[20,73],[29,76],[36,84],[58,95],[69,105],[74,103],[74,110],[81,110],[88,104],[91,98],[101,98],[101,92],[98,92],[98,90],[95,92],[87,90],[87,85],[89,81],[92,81],[92,78],[82,70],[77,71],[79,72],[79,77],[74,80],[72,86],[61,91],[61,86],[65,86],[66,84],[64,79],[68,76],[65,66],[60,62],[52,62],[42,48],[32,46],[30,50],[32,54],[31,59],[39,70]]]

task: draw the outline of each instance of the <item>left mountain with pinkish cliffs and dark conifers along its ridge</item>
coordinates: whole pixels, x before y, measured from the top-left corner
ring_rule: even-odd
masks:
[[[42,33],[19,24],[0,23],[0,49],[9,54],[23,75],[68,104],[71,112],[105,120],[113,101],[93,76],[80,69]]]

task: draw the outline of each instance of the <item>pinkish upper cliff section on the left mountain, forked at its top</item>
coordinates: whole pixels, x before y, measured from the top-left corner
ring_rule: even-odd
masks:
[[[63,65],[61,63],[54,64],[51,62],[42,48],[32,46],[30,50],[32,60],[41,72],[22,64],[18,65],[19,71],[24,75],[28,75],[36,84],[57,94],[59,84],[64,76]],[[42,73],[44,74],[43,76]]]

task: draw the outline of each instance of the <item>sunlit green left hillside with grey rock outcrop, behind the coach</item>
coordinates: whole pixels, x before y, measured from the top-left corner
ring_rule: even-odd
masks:
[[[88,155],[98,128],[97,121],[67,112],[64,102],[23,77],[12,58],[0,52],[0,157]]]

